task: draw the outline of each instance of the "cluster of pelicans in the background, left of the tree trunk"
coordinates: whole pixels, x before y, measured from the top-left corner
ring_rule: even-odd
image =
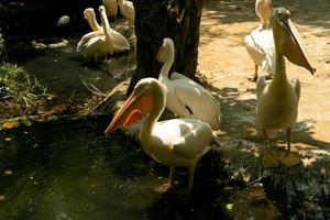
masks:
[[[134,24],[134,7],[131,1],[125,0],[105,0],[103,6],[99,7],[101,25],[97,22],[92,8],[84,11],[91,32],[85,34],[77,44],[77,52],[80,52],[87,59],[107,57],[108,54],[117,54],[130,50],[127,37],[114,29],[110,28],[108,16],[117,18],[118,7],[121,14],[129,21],[130,28]]]

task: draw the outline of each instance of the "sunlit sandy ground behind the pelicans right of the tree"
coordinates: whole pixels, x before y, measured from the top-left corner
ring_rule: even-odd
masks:
[[[288,78],[301,84],[299,116],[293,146],[305,165],[330,155],[330,1],[273,1],[286,7],[302,36],[317,68],[312,76],[302,67],[286,62]],[[317,6],[317,7],[316,7]],[[207,1],[201,19],[198,69],[218,96],[222,108],[222,138],[245,139],[263,143],[255,127],[255,82],[248,78],[254,65],[243,38],[258,25],[254,1]],[[273,135],[284,146],[285,135]],[[312,157],[311,157],[312,156]]]

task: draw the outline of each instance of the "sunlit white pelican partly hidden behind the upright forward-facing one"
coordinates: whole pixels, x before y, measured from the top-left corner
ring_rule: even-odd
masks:
[[[244,37],[244,46],[254,63],[254,77],[256,81],[258,67],[263,72],[273,74],[274,40],[270,29],[270,19],[272,15],[271,0],[256,0],[255,12],[261,20],[261,25]]]

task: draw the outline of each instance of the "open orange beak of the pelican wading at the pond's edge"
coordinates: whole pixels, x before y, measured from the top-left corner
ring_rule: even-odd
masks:
[[[136,92],[134,89],[105,131],[106,135],[110,134],[116,129],[124,128],[140,121],[150,112],[152,107],[153,99],[151,96],[143,96],[142,92]]]

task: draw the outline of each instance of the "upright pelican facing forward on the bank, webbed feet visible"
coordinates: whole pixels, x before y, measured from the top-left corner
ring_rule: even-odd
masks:
[[[286,129],[287,153],[279,160],[286,166],[300,163],[300,160],[290,154],[290,134],[298,116],[298,101],[300,98],[300,84],[297,78],[287,80],[284,56],[292,63],[302,66],[311,74],[311,67],[300,35],[290,21],[290,13],[284,8],[274,9],[271,19],[275,42],[274,79],[266,80],[261,76],[256,82],[256,124],[263,131],[266,145],[264,158],[265,167],[276,167],[277,157],[267,146],[267,130]]]

